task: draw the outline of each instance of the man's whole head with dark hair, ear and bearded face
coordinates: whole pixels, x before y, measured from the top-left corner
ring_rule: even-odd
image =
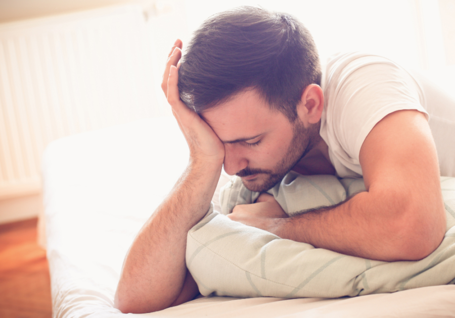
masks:
[[[300,22],[241,7],[210,17],[195,32],[178,88],[224,142],[224,170],[265,191],[319,137],[320,83],[317,51]]]

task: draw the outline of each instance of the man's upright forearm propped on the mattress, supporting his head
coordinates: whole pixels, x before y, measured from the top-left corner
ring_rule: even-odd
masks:
[[[115,305],[123,312],[169,307],[185,277],[188,231],[207,213],[221,165],[190,164],[134,239],[123,264]]]

